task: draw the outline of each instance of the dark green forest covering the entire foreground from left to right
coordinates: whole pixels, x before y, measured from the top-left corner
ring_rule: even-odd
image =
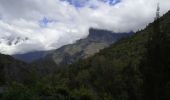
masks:
[[[170,100],[169,44],[170,12],[133,36],[69,66],[55,66],[48,61],[41,65],[10,64],[15,60],[2,61],[5,57],[1,57],[1,69],[14,65],[14,70],[21,74],[11,73],[18,76],[12,78],[6,78],[5,74],[3,78],[7,72],[1,70],[0,83],[6,89],[0,97],[2,100]],[[19,66],[27,72],[19,70]],[[52,70],[43,70],[49,69],[48,66],[53,66]]]

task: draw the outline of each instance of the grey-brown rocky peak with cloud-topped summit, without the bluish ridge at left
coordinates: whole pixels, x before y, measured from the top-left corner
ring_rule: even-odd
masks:
[[[89,30],[89,35],[85,39],[76,41],[74,44],[63,46],[48,54],[44,59],[52,59],[56,64],[68,65],[79,59],[85,59],[108,47],[110,44],[121,38],[129,37],[130,33],[114,33],[107,30]]]

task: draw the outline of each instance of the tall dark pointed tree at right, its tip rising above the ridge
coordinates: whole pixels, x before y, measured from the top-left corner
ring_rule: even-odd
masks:
[[[153,30],[149,34],[147,52],[141,64],[141,72],[144,77],[145,100],[167,100],[166,84],[170,80],[169,38],[161,26],[159,18],[159,5],[157,7],[156,18],[153,23]],[[165,26],[168,27],[168,26]]]

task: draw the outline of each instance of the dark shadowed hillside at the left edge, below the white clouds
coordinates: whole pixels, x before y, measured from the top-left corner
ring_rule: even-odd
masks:
[[[31,73],[29,66],[11,56],[0,54],[0,85],[23,82]]]

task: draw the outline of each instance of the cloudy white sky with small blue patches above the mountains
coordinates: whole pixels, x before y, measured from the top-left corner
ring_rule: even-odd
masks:
[[[158,2],[160,15],[170,10],[170,0],[0,0],[0,53],[57,49],[91,27],[137,31],[154,20]]]

